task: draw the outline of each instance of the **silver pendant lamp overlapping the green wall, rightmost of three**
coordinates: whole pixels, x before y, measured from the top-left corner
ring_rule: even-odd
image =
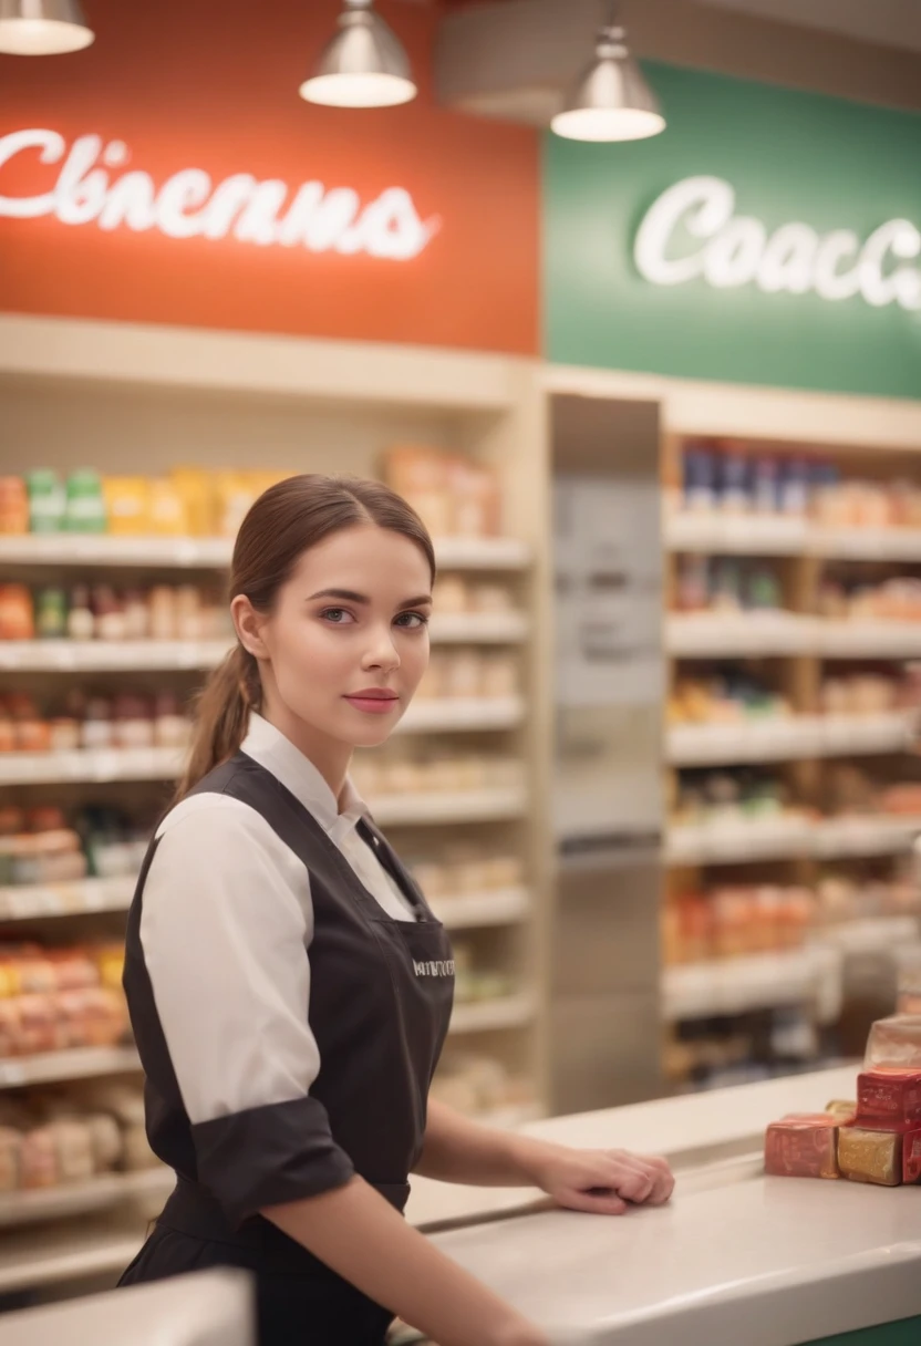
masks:
[[[551,127],[567,140],[645,140],[665,129],[658,100],[627,51],[615,0],[607,4],[594,61],[579,75]]]

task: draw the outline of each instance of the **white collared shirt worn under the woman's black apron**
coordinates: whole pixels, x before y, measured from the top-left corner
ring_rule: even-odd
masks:
[[[316,767],[259,715],[242,751],[316,818],[380,906],[416,919]],[[228,794],[193,794],[158,828],[140,918],[156,1012],[193,1125],[310,1093],[310,874],[267,820]]]

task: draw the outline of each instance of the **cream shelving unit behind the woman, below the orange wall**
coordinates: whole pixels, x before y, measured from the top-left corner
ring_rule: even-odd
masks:
[[[547,595],[549,516],[543,393],[528,361],[337,342],[275,341],[120,323],[0,318],[0,416],[15,436],[19,467],[62,474],[86,463],[104,472],[156,475],[174,463],[244,468],[257,463],[292,471],[374,476],[392,444],[423,443],[493,464],[505,497],[504,534],[436,538],[440,572],[508,587],[509,610],[443,611],[430,634],[435,645],[514,651],[520,696],[417,700],[400,724],[396,752],[415,752],[415,738],[448,735],[452,750],[498,752],[521,763],[514,787],[378,794],[369,804],[408,853],[440,851],[456,836],[522,861],[521,887],[454,892],[435,902],[451,929],[473,940],[485,966],[520,992],[458,1005],[452,1024],[463,1051],[502,1062],[533,1094],[528,1108],[500,1109],[514,1124],[545,1110],[545,957],[549,890],[549,658]],[[214,583],[232,553],[228,538],[26,536],[0,537],[4,579],[67,584],[77,580],[143,587],[148,583]],[[0,672],[30,686],[86,680],[105,689],[151,686],[154,677],[182,678],[183,695],[224,657],[213,641],[0,642]],[[106,681],[108,680],[108,681]],[[172,686],[171,681],[167,685]],[[175,778],[182,754],[143,751],[0,755],[0,795],[40,802],[66,794],[74,806],[97,798],[151,800]],[[486,779],[489,777],[486,775]],[[44,794],[43,791],[48,791]],[[58,795],[61,797],[61,795]],[[456,829],[456,832],[455,832]],[[0,922],[67,918],[110,922],[131,902],[135,878],[0,887]],[[53,929],[53,927],[48,927]],[[51,938],[51,935],[48,935]],[[481,1044],[482,1043],[482,1044]],[[137,1070],[133,1049],[61,1053],[0,1061],[0,1089],[66,1085],[70,1079]],[[159,1175],[158,1175],[159,1176]],[[133,1256],[143,1224],[129,1217],[133,1189],[154,1176],[98,1183],[78,1193],[0,1207],[0,1291],[66,1275],[109,1273]],[[59,1198],[59,1202],[55,1202]],[[131,1201],[125,1201],[131,1198]],[[85,1202],[85,1205],[81,1205]],[[59,1218],[83,1211],[77,1222]],[[102,1207],[106,1206],[104,1210]],[[18,1211],[22,1214],[19,1219]],[[35,1221],[16,1238],[13,1224]],[[42,1224],[39,1224],[42,1221]],[[22,1238],[22,1244],[20,1244]],[[7,1245],[11,1259],[7,1260]],[[22,1248],[22,1253],[20,1253]]]

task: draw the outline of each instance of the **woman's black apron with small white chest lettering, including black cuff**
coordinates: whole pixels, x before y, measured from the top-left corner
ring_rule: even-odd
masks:
[[[347,1178],[345,1156],[403,1211],[425,1135],[428,1088],[451,1016],[454,961],[447,934],[372,824],[361,821],[360,833],[411,900],[416,921],[388,915],[307,809],[244,752],[211,771],[193,793],[229,794],[256,809],[310,874],[310,1027],[320,1071],[310,1100],[191,1125],[140,941],[155,839],[128,918],[124,983],[145,1073],[147,1133],[154,1151],[175,1170],[178,1184],[120,1284],[241,1267],[256,1280],[260,1346],[380,1346],[390,1311],[261,1215],[236,1219],[233,1211],[310,1195],[311,1175],[322,1178],[323,1166],[326,1182],[316,1190],[327,1190],[335,1186],[333,1178]],[[219,864],[214,856],[215,875]],[[189,1031],[195,1031],[194,1023]],[[316,1127],[306,1108],[322,1117]],[[291,1145],[294,1139],[285,1171],[298,1172],[302,1133],[307,1186],[289,1191],[284,1182],[291,1179],[279,1179],[272,1166],[277,1167],[279,1145]]]

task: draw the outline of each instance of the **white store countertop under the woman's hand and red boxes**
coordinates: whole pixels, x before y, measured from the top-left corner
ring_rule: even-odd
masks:
[[[855,1077],[823,1071],[526,1128],[667,1154],[679,1184],[660,1210],[514,1214],[532,1193],[478,1203],[465,1193],[439,1207],[440,1184],[427,1184],[412,1217],[427,1205],[438,1245],[560,1346],[800,1346],[838,1334],[850,1334],[840,1346],[921,1346],[921,1190],[762,1172],[768,1123],[852,1097]]]

